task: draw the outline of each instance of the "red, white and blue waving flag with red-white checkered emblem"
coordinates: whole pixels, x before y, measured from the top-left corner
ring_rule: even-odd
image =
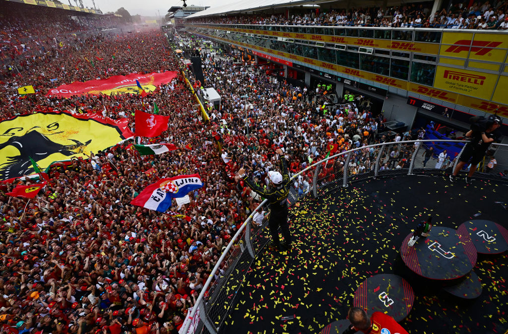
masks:
[[[146,187],[131,204],[150,210],[166,212],[171,206],[171,198],[183,197],[188,192],[203,187],[198,174],[179,175],[161,178],[156,183]]]

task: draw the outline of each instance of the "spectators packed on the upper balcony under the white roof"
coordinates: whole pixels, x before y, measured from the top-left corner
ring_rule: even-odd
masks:
[[[407,4],[387,9],[359,7],[350,9],[308,10],[301,13],[230,15],[189,19],[195,23],[263,25],[334,25],[378,27],[423,27],[454,29],[508,29],[508,2],[455,4],[431,13],[432,3]]]

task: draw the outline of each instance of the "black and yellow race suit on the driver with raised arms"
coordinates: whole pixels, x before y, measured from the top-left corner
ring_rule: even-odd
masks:
[[[263,188],[257,186],[252,178],[248,178],[247,175],[243,177],[243,180],[250,189],[255,191],[261,197],[266,198],[270,204],[270,219],[268,221],[268,225],[275,245],[280,244],[278,234],[279,225],[285,242],[287,244],[291,244],[291,233],[289,232],[288,226],[288,195],[291,183],[288,173],[288,164],[283,156],[279,158],[279,168],[282,174],[282,183],[277,188],[264,190]]]

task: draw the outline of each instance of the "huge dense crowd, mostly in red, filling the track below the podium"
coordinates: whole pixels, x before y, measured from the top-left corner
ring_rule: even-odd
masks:
[[[127,118],[133,127],[134,111],[152,112],[156,103],[170,117],[169,130],[142,142],[169,142],[179,149],[142,157],[123,143],[90,153],[90,159],[54,164],[47,185],[28,203],[5,193],[34,181],[0,185],[0,321],[8,332],[176,333],[232,235],[261,202],[243,181],[234,182],[239,168],[250,167],[263,185],[275,168],[277,148],[296,173],[323,159],[330,147],[339,152],[387,140],[376,137],[383,115],[372,114],[364,97],[346,95],[332,106],[325,103],[328,85],[310,92],[266,76],[262,67],[234,66],[229,55],[207,49],[201,53],[206,87],[224,97],[221,110],[210,110],[208,124],[181,76],[144,100],[138,95],[46,97],[49,89],[75,80],[178,70],[182,59],[161,31],[81,38],[74,30],[80,26],[62,27],[70,34],[65,36],[58,33],[59,24],[31,31],[33,23],[16,15],[0,20],[11,39],[4,47],[21,53],[0,73],[0,120],[69,111]],[[52,21],[65,22],[66,15]],[[33,52],[24,53],[28,47],[14,43],[21,37],[33,42]],[[184,54],[199,50],[199,41],[186,38],[192,42]],[[187,76],[196,83],[188,71]],[[24,85],[33,85],[36,94],[19,96],[16,88]],[[220,152],[217,138],[224,145]],[[403,167],[411,149],[394,146],[382,168]],[[344,163],[343,158],[331,161],[320,179],[333,179]],[[371,151],[358,151],[349,164],[353,174],[371,170]],[[157,173],[144,173],[152,167]],[[188,219],[130,204],[157,177],[191,173],[201,175],[203,188],[189,194],[190,203],[171,208]],[[312,177],[309,172],[295,180],[300,195],[309,191]],[[228,261],[221,264],[214,279],[227,266]]]

